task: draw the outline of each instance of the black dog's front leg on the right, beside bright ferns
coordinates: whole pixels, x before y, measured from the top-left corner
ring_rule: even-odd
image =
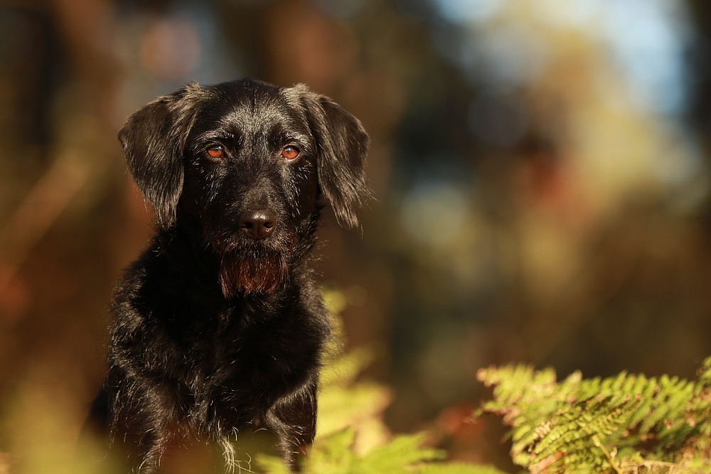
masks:
[[[299,456],[316,436],[316,378],[279,399],[264,416],[264,424],[279,437],[284,463],[294,473],[299,472]]]

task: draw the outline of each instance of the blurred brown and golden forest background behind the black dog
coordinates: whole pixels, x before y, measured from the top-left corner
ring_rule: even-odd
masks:
[[[513,469],[497,420],[463,422],[479,367],[694,377],[711,355],[708,2],[3,0],[0,451],[70,451],[100,385],[151,235],[118,129],[242,76],[305,82],[373,140],[363,232],[327,212],[318,271],[392,431]]]

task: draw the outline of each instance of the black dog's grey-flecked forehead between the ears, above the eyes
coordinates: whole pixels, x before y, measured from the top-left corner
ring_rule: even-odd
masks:
[[[242,135],[277,129],[306,129],[303,110],[282,88],[256,81],[228,82],[205,90],[197,124]]]

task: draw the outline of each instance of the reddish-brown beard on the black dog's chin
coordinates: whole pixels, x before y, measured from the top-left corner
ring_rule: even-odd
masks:
[[[220,286],[225,298],[237,293],[274,293],[288,277],[283,254],[274,253],[260,259],[239,254],[225,255],[220,265]]]

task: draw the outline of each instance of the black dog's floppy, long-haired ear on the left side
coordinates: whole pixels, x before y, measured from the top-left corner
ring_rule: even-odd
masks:
[[[176,222],[183,191],[183,151],[193,122],[196,84],[164,95],[132,114],[119,131],[129,171],[151,203],[159,229]]]

